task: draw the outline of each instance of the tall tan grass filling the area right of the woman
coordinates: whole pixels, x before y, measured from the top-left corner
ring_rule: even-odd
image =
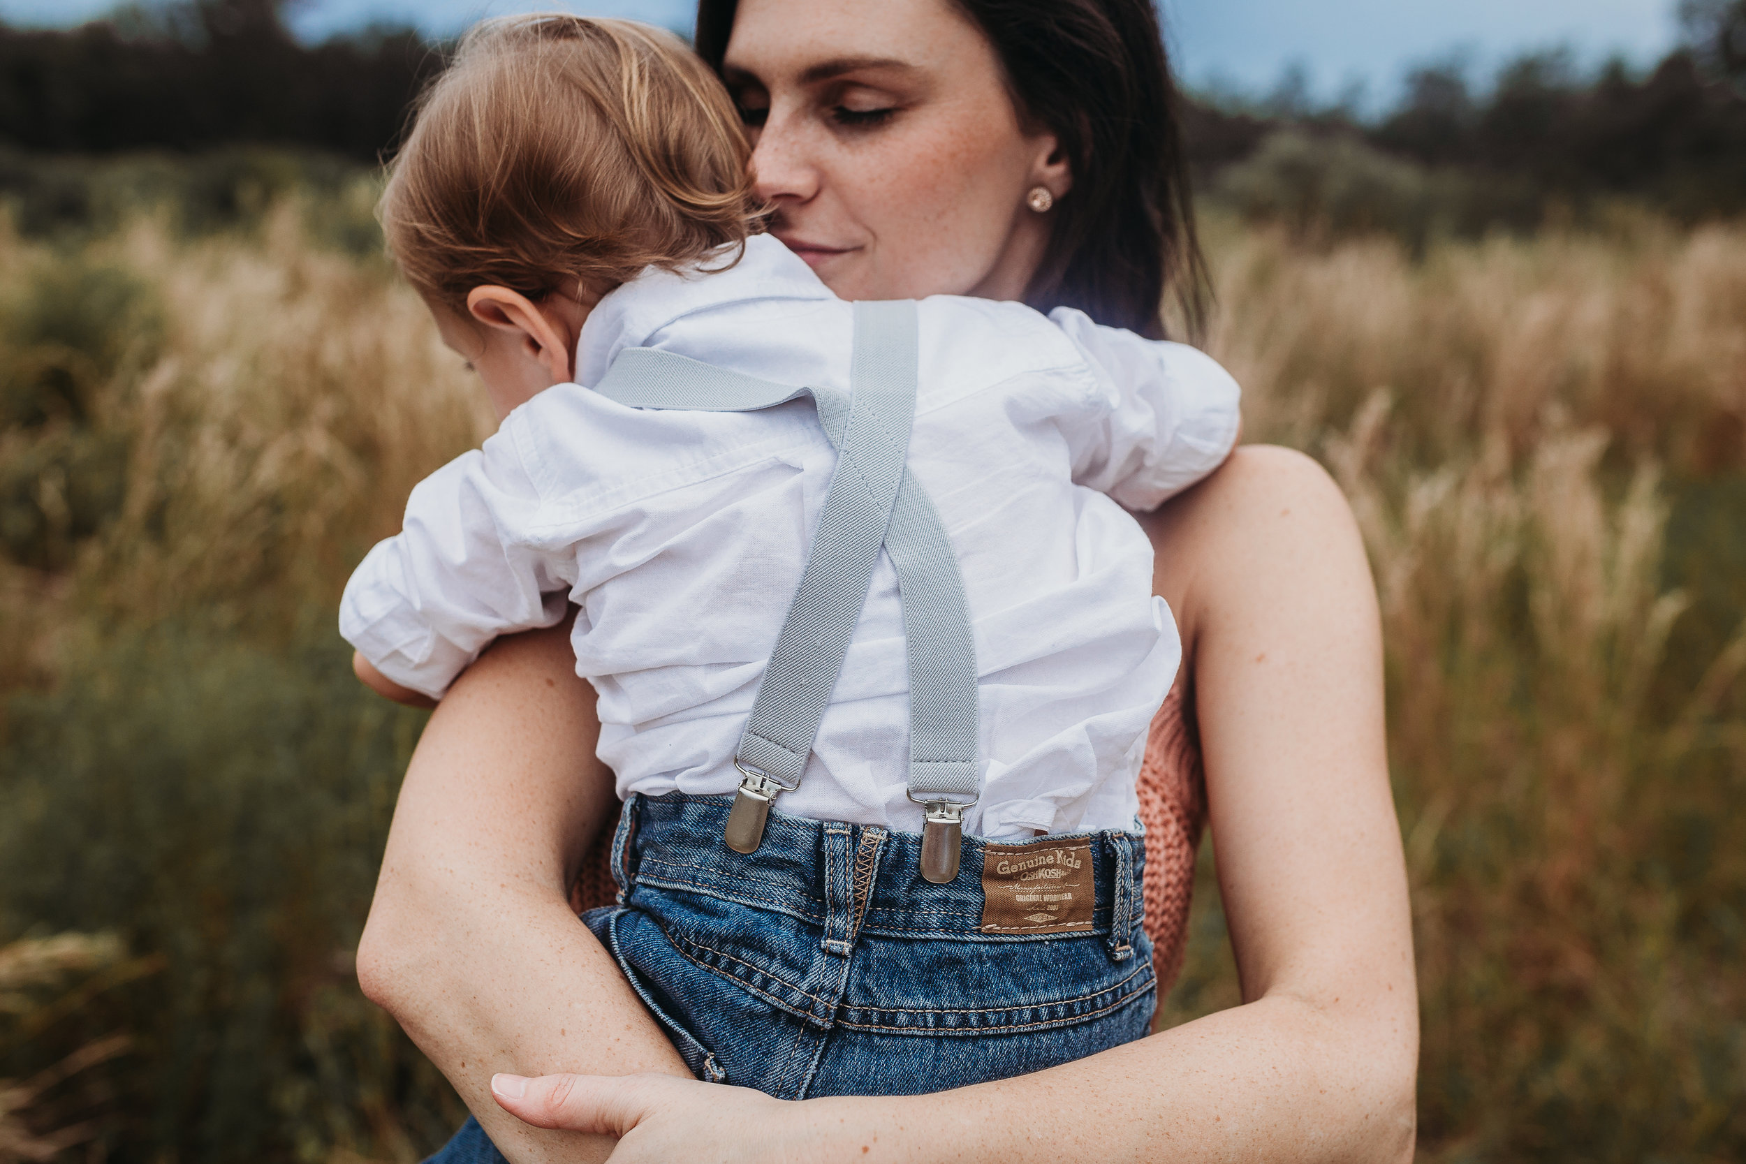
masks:
[[[1746,229],[1217,270],[1252,431],[1332,469],[1381,595],[1425,1157],[1737,1159]],[[1236,998],[1220,939],[1177,1017]]]

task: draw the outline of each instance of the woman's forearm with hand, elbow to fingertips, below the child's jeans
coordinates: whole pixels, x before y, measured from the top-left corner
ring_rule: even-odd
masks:
[[[910,1098],[784,1101],[665,1077],[498,1078],[538,1127],[622,1136],[613,1164],[1413,1159],[1409,989],[1278,989],[1035,1075]]]

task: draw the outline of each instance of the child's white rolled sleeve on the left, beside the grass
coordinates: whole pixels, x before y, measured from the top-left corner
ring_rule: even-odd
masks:
[[[419,482],[402,531],[346,583],[340,635],[393,682],[442,698],[498,635],[562,621],[564,557],[529,536],[540,501],[508,426]]]

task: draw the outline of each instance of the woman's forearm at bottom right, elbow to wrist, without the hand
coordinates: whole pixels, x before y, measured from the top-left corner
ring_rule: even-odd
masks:
[[[1411,1161],[1413,1065],[1381,1028],[1285,993],[1035,1075],[801,1106],[815,1161]],[[863,1152],[863,1147],[868,1152]]]

